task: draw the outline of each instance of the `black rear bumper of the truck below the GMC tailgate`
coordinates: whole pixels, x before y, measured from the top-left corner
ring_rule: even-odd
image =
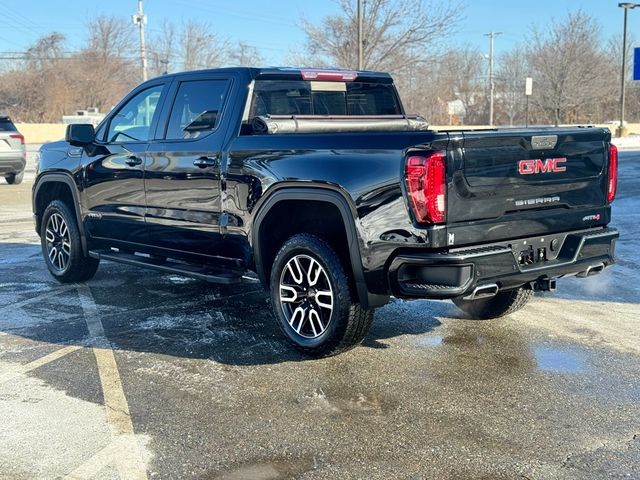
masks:
[[[516,288],[564,275],[589,276],[615,263],[613,228],[597,228],[449,250],[401,253],[389,267],[393,295],[453,298],[478,287]]]

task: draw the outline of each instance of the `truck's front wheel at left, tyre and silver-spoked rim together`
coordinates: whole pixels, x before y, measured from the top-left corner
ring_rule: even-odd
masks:
[[[85,254],[75,215],[60,200],[54,200],[42,216],[42,255],[53,277],[62,283],[82,282],[93,277],[99,260]]]

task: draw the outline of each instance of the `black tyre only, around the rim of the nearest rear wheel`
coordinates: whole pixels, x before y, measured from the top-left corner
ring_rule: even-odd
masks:
[[[326,272],[332,290],[333,310],[326,329],[316,338],[297,333],[285,313],[286,304],[281,303],[283,271],[298,256],[315,260]],[[289,343],[307,355],[325,357],[349,350],[362,342],[373,322],[373,309],[362,308],[354,298],[340,258],[324,240],[315,235],[297,234],[282,245],[271,269],[270,288],[271,304],[280,329]],[[316,301],[315,297],[307,300],[309,303]],[[317,306],[311,305],[309,308]]]

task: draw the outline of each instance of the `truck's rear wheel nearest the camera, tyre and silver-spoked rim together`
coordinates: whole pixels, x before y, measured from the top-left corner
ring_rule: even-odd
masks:
[[[359,344],[373,310],[352,297],[340,259],[321,238],[289,238],[271,269],[271,303],[278,325],[298,350],[329,356]]]

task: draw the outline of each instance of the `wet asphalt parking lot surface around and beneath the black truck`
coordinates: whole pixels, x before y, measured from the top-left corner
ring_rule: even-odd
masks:
[[[393,301],[364,344],[292,351],[259,285],[47,273],[33,175],[0,184],[0,478],[640,478],[640,151],[619,263],[523,311]]]

